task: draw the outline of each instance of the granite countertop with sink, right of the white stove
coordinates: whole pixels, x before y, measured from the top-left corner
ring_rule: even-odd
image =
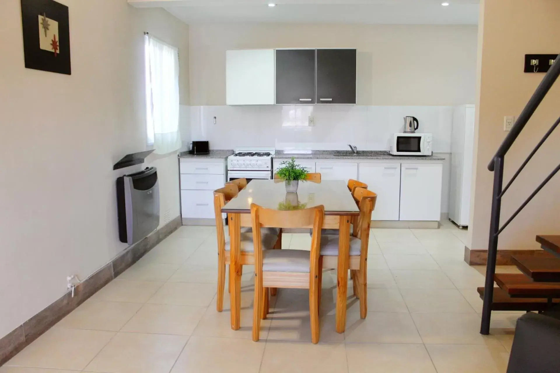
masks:
[[[445,160],[435,155],[391,155],[385,150],[358,150],[354,155],[350,150],[311,150],[311,153],[284,153],[284,150],[276,150],[274,158],[277,159],[380,159],[380,160]]]

